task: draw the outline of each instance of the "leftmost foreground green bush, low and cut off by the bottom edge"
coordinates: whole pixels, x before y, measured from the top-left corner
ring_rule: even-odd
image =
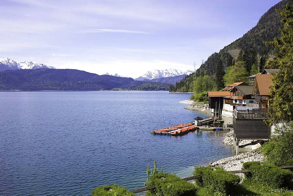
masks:
[[[104,185],[92,190],[92,196],[134,196],[134,193],[118,185]]]

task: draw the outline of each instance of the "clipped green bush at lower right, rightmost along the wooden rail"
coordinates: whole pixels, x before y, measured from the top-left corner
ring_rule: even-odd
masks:
[[[272,187],[285,186],[293,178],[292,172],[290,170],[281,169],[276,165],[268,163],[248,163],[246,164],[245,169],[251,171],[250,178],[252,180]]]

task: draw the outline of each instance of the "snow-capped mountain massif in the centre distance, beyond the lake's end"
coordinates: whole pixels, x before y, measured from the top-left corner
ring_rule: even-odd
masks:
[[[176,70],[173,68],[170,69],[165,69],[165,70],[152,70],[146,72],[144,75],[140,76],[139,78],[135,80],[152,80],[155,78],[161,78],[161,77],[173,77],[173,76],[178,76],[178,75],[189,75],[190,73],[193,73],[193,71],[181,71],[181,70]]]

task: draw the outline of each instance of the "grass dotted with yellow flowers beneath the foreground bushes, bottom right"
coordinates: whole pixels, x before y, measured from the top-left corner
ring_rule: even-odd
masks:
[[[214,195],[213,192],[211,192],[206,187],[199,187],[197,186],[198,196],[205,196],[205,195]],[[245,179],[243,180],[243,183],[238,185],[234,190],[229,190],[227,195],[239,195],[239,196],[268,196],[268,195],[293,195],[293,184],[290,187],[282,187],[282,188],[275,188],[270,187],[268,185],[259,184],[258,182],[255,182],[253,180]]]

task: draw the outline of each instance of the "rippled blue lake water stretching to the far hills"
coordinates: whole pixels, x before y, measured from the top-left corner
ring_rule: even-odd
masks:
[[[116,183],[143,187],[147,164],[192,175],[194,165],[231,156],[219,132],[150,131],[207,113],[184,109],[190,94],[0,92],[0,195],[89,195]]]

